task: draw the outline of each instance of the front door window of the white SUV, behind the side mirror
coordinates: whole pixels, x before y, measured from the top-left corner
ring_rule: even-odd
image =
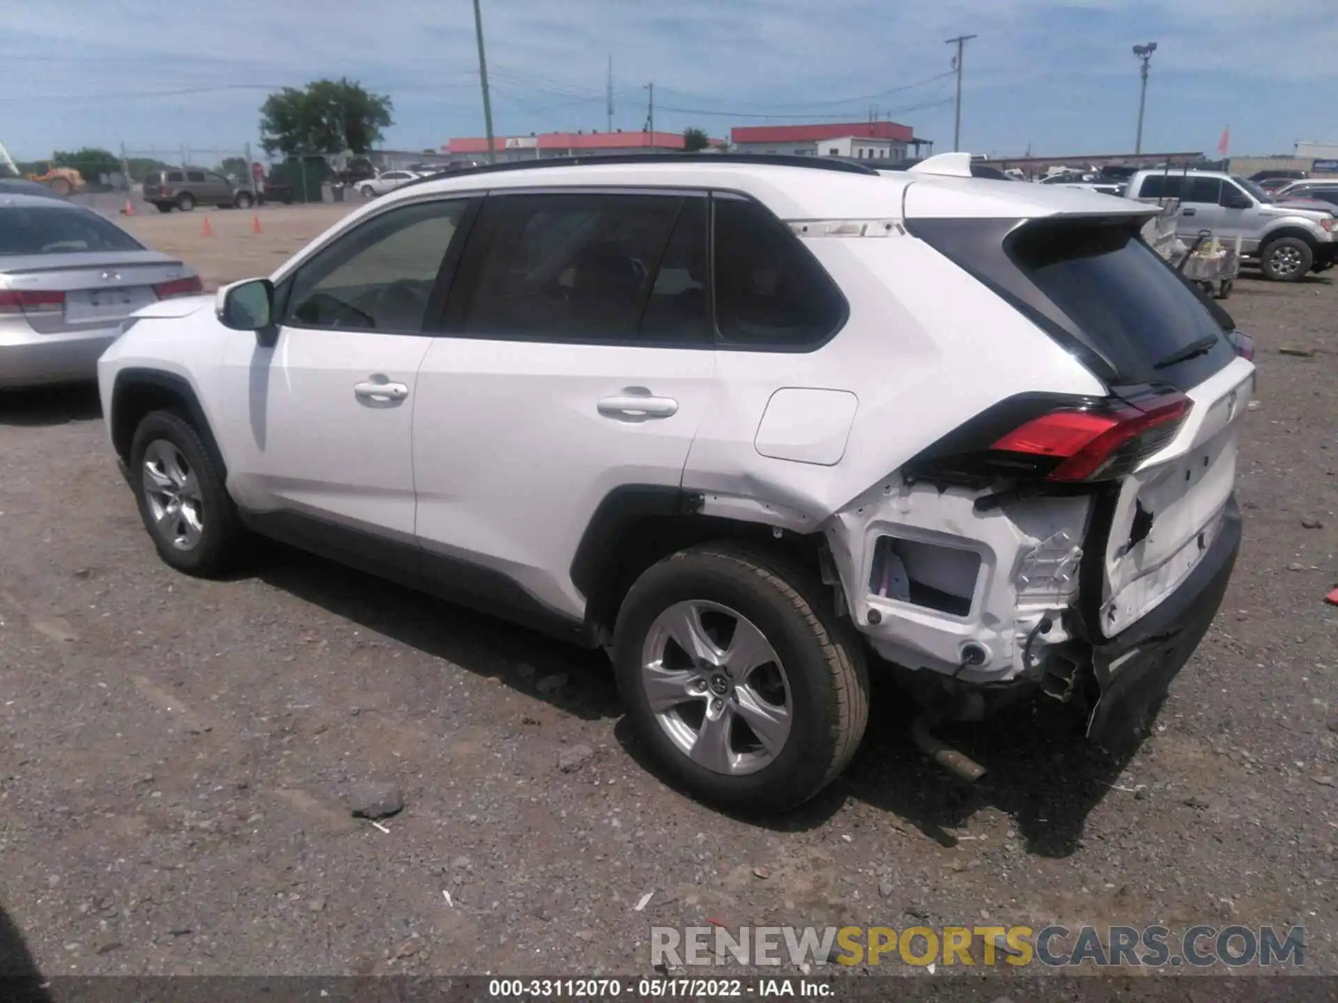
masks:
[[[403,206],[334,238],[293,277],[284,324],[420,333],[466,205]]]

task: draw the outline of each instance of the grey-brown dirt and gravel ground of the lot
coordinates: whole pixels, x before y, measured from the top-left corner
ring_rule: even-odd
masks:
[[[130,225],[218,284],[339,210]],[[0,401],[4,909],[48,975],[648,974],[652,923],[708,917],[1298,924],[1338,972],[1338,288],[1227,306],[1260,349],[1247,539],[1156,734],[1115,764],[1049,710],[959,726],[965,789],[878,689],[848,774],[769,824],[648,772],[598,658],[288,550],[169,571],[92,393]],[[403,793],[388,832],[365,780]]]

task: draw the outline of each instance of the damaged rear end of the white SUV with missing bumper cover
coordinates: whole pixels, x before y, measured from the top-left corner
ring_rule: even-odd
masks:
[[[896,471],[876,511],[839,516],[864,540],[855,615],[879,654],[922,670],[917,740],[959,773],[978,768],[938,752],[925,723],[1034,690],[1086,709],[1108,748],[1136,740],[1235,563],[1251,342],[1140,222],[907,219],[1103,384],[999,400]]]

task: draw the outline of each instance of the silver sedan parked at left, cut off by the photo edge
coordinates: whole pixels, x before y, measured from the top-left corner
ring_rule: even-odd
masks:
[[[92,380],[134,310],[199,278],[72,202],[0,193],[0,388]]]

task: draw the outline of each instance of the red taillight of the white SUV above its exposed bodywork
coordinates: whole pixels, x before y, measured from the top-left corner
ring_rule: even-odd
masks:
[[[1189,407],[1188,397],[1172,393],[1112,411],[1054,411],[1032,419],[990,448],[1058,460],[1048,480],[1120,476],[1169,443]]]

